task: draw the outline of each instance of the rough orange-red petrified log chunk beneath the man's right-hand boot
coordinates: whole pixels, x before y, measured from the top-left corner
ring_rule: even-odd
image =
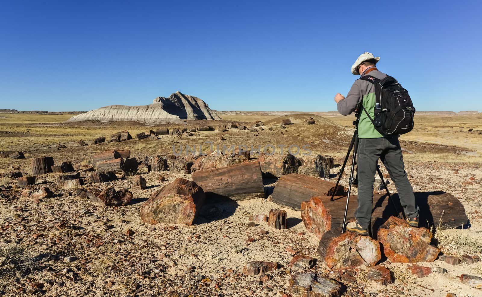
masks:
[[[392,263],[433,262],[440,254],[438,248],[430,245],[432,232],[423,227],[411,227],[404,219],[395,216],[380,226],[377,238]]]

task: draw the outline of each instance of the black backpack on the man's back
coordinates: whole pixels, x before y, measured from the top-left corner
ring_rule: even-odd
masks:
[[[366,109],[368,118],[383,136],[405,134],[414,128],[415,108],[408,91],[402,88],[396,79],[391,76],[380,80],[370,75],[365,75],[361,80],[370,81],[375,85],[375,118],[372,119]]]

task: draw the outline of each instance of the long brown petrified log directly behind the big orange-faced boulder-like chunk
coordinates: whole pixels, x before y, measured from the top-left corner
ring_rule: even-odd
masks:
[[[194,180],[207,198],[234,201],[264,197],[263,176],[259,162],[246,162],[215,170],[196,171]]]

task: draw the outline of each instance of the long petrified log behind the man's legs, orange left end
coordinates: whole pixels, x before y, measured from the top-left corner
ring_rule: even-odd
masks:
[[[284,176],[280,178],[280,181],[283,178]],[[278,185],[280,181],[278,181]],[[273,191],[273,198],[275,198],[278,185],[276,185]],[[353,215],[358,205],[357,198],[358,196],[356,195],[350,195],[347,222],[354,219]],[[397,206],[397,210],[401,211],[402,205],[400,204],[398,194],[392,194],[392,199]],[[436,227],[439,222],[441,222],[443,228],[457,228],[467,225],[469,221],[464,206],[452,194],[445,192],[415,192],[415,201],[420,208],[420,224],[428,229],[432,226]],[[273,199],[273,202],[276,201]],[[318,238],[321,238],[321,235],[330,229],[341,230],[346,203],[347,196],[335,196],[334,201],[330,201],[329,196],[317,196],[313,200],[308,198],[307,202],[301,206],[301,218],[305,227],[315,233]],[[397,216],[397,211],[393,208],[392,203],[388,201],[388,195],[375,194],[372,211],[372,231],[374,236],[377,234],[380,225],[390,216]],[[400,217],[402,217],[402,214],[400,214]]]

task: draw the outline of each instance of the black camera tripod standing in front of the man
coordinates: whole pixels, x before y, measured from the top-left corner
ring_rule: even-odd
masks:
[[[351,162],[351,171],[350,171],[350,177],[348,179],[348,194],[347,194],[347,205],[345,206],[345,216],[343,216],[343,227],[342,227],[342,230],[341,232],[344,233],[345,230],[346,230],[346,221],[347,221],[347,212],[348,212],[348,202],[350,200],[350,191],[351,191],[351,185],[354,185],[354,184],[357,184],[358,182],[356,181],[357,178],[354,178],[353,175],[355,173],[355,163],[356,163],[356,157],[357,157],[357,152],[358,152],[358,142],[359,142],[359,138],[358,138],[358,122],[360,121],[360,115],[357,113],[357,111],[355,111],[355,116],[356,116],[356,120],[353,121],[353,125],[355,126],[355,132],[353,133],[353,137],[351,138],[351,142],[350,142],[350,146],[348,147],[348,152],[347,152],[347,156],[345,157],[345,161],[343,161],[343,166],[341,166],[341,169],[340,169],[340,176],[338,176],[338,180],[336,181],[336,186],[335,186],[335,191],[333,191],[333,194],[332,194],[332,197],[330,199],[330,201],[333,201],[333,197],[335,197],[335,192],[336,192],[336,189],[338,189],[338,184],[340,183],[340,179],[341,179],[341,175],[343,174],[343,172],[345,171],[345,166],[347,165],[347,162],[348,162],[348,158],[350,156],[350,152],[351,150],[353,149],[353,159],[352,159],[352,162]],[[387,191],[387,194],[388,194],[388,200],[391,201],[395,211],[397,212],[397,216],[399,216],[400,212],[398,211],[397,209],[397,206],[395,205],[395,202],[393,202],[393,199],[390,195],[390,192],[388,191],[388,188],[387,188],[387,184],[385,184],[385,180],[383,179],[383,175],[380,171],[380,168],[378,167],[378,165],[376,166],[376,172],[378,173],[378,176],[380,176],[380,179],[382,180],[382,184],[383,184],[383,187],[385,188],[385,190]],[[403,218],[405,218],[405,214],[403,214]],[[371,230],[372,228],[370,228]],[[371,232],[370,232],[371,233]]]

